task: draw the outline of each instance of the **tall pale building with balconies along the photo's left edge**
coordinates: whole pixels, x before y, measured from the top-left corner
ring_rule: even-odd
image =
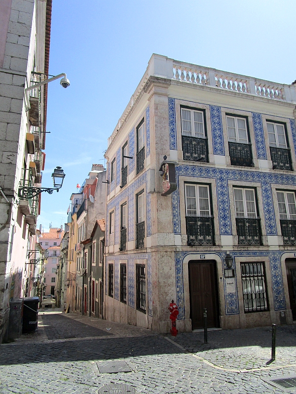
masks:
[[[0,0],[0,342],[10,299],[36,295],[43,272],[40,198],[19,188],[41,186],[47,85],[24,92],[47,79],[50,21],[51,0]]]

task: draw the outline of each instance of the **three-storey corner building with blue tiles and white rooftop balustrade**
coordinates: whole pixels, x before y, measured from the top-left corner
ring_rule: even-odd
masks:
[[[296,320],[296,89],[153,54],[109,137],[105,317]]]

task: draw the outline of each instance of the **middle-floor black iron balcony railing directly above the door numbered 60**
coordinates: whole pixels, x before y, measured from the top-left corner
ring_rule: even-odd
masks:
[[[205,216],[186,216],[187,245],[214,245],[214,220]]]

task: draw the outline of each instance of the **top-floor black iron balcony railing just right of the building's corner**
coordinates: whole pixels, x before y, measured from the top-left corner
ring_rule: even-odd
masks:
[[[208,162],[208,140],[182,135],[183,159]]]

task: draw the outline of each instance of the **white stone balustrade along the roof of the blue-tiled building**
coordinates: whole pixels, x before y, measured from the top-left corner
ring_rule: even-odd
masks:
[[[123,125],[130,109],[138,99],[150,76],[243,93],[264,99],[296,103],[296,85],[277,84],[246,75],[216,70],[215,68],[179,62],[166,56],[153,54],[141,82],[131,97],[111,137],[108,139],[108,145],[111,144],[116,132]]]

